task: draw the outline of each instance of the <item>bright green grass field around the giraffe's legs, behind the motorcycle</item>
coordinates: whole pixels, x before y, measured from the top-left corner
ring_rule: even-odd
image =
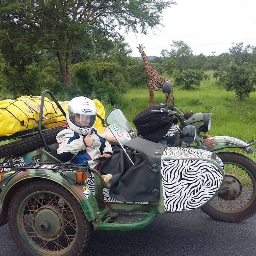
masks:
[[[173,88],[175,106],[184,112],[190,109],[195,113],[211,112],[212,128],[209,132],[210,135],[228,135],[244,141],[256,139],[256,93],[251,93],[249,99],[239,101],[234,92],[227,92],[222,86],[216,84],[216,79],[212,76],[213,71],[207,73],[211,74],[210,80],[202,81],[200,87],[193,90]],[[164,76],[168,77],[166,74]],[[148,88],[144,86],[139,89],[130,89],[124,95],[123,100],[123,104],[120,103],[118,107],[132,122],[134,116],[149,106]],[[155,103],[164,102],[164,93],[155,92]],[[106,113],[109,110],[110,108],[107,106]],[[232,151],[244,154],[244,151],[240,149]],[[256,161],[256,153],[248,156]]]

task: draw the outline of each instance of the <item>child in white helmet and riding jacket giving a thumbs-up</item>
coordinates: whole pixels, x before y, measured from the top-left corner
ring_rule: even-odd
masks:
[[[109,142],[93,127],[96,116],[97,108],[89,98],[75,97],[69,102],[68,128],[60,131],[56,136],[59,143],[57,156],[61,161],[89,164],[100,171],[101,157],[111,156],[113,151]],[[108,186],[111,176],[111,174],[102,176]]]

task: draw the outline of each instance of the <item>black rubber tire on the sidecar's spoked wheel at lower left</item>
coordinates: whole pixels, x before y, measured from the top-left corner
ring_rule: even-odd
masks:
[[[12,239],[14,240],[14,243],[20,249],[20,251],[22,252],[22,255],[41,256],[41,254],[34,252],[33,250],[31,250],[29,246],[27,246],[26,241],[23,240],[20,234],[20,231],[18,228],[18,221],[17,221],[20,202],[22,202],[31,193],[34,193],[40,190],[50,191],[58,195],[61,195],[72,207],[77,219],[78,234],[73,247],[67,253],[64,253],[62,255],[63,256],[80,256],[89,242],[91,232],[92,232],[92,224],[91,222],[87,221],[84,215],[84,212],[81,208],[81,205],[78,203],[76,198],[68,190],[66,190],[60,185],[57,185],[52,181],[44,181],[44,180],[32,181],[24,185],[23,187],[21,187],[13,196],[9,206],[9,210],[8,210],[8,226],[9,226],[10,233],[12,235]]]

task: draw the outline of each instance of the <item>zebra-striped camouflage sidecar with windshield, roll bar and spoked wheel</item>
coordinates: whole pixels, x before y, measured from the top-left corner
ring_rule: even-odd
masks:
[[[194,210],[221,193],[225,175],[217,155],[139,138],[118,108],[106,122],[132,168],[117,172],[119,180],[113,178],[108,188],[101,173],[89,165],[61,162],[58,143],[47,144],[40,128],[45,93],[63,111],[53,94],[44,91],[38,125],[44,147],[0,164],[0,225],[8,222],[25,254],[80,255],[92,227],[144,228],[158,213]],[[132,155],[140,156],[140,166]]]

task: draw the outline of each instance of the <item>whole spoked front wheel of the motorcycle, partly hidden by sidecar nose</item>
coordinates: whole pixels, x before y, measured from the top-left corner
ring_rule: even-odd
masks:
[[[256,164],[247,156],[220,152],[224,163],[225,194],[213,198],[201,209],[216,220],[238,222],[256,213]]]

